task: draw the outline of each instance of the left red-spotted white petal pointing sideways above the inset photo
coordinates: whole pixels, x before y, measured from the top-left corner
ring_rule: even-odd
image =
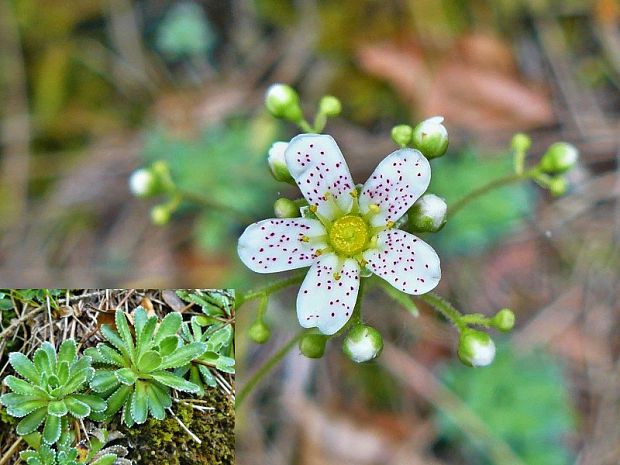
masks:
[[[319,240],[325,236],[323,225],[313,219],[269,219],[246,228],[237,246],[241,261],[256,273],[276,273],[310,266],[316,251],[326,247]]]

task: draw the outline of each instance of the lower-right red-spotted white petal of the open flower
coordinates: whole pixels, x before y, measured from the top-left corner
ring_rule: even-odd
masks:
[[[377,235],[377,247],[364,252],[368,268],[407,294],[425,294],[441,279],[439,257],[413,234],[392,229]]]

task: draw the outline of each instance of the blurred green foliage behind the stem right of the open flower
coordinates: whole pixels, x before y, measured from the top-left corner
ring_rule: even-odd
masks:
[[[449,153],[433,160],[428,192],[451,205],[489,181],[513,172],[508,154],[482,157],[473,150]],[[514,232],[534,210],[534,190],[527,183],[495,189],[463,208],[446,226],[429,237],[442,256],[476,254]]]

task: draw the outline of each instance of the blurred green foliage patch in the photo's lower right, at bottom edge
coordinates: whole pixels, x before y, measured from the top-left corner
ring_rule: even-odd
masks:
[[[454,361],[444,367],[441,378],[527,465],[572,463],[567,441],[575,431],[576,414],[568,381],[558,362],[543,350],[522,354],[504,345],[490,366],[471,369]],[[466,435],[450,412],[436,419],[441,438],[458,445],[468,463],[493,463],[487,446]]]

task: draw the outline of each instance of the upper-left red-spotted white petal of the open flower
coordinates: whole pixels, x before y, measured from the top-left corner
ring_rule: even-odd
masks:
[[[284,154],[286,165],[310,205],[328,219],[337,208],[348,212],[353,199],[353,179],[336,141],[325,134],[300,134],[289,143]],[[331,198],[325,198],[329,193]]]

